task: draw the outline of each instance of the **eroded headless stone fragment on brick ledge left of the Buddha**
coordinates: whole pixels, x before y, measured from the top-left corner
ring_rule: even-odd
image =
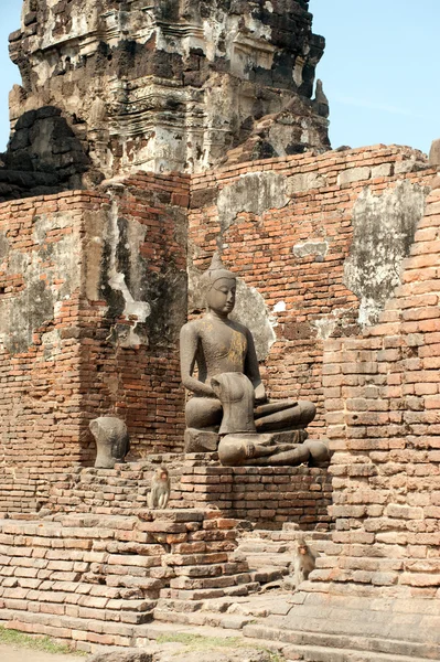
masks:
[[[115,416],[99,416],[90,421],[89,428],[96,441],[95,467],[112,469],[116,463],[125,461],[130,441],[124,420]]]

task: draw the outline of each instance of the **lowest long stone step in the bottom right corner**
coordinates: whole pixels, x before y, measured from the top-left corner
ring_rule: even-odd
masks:
[[[313,656],[303,658],[304,660],[310,660],[311,662],[353,662],[357,661],[357,658],[353,658],[353,654],[356,655],[366,655],[359,656],[358,661],[363,662],[364,660],[367,662],[369,660],[376,660],[376,658],[368,655],[384,655],[383,660],[393,661],[400,660],[401,662],[406,662],[407,660],[439,660],[440,659],[440,648],[436,644],[423,644],[411,641],[398,641],[395,639],[383,639],[380,637],[356,637],[348,634],[329,634],[326,632],[311,632],[307,630],[288,630],[281,628],[271,628],[265,626],[264,623],[256,624],[247,624],[243,629],[243,634],[245,638],[251,639],[266,639],[279,641],[288,644],[292,644],[289,647],[290,651],[302,652],[302,649],[313,648],[313,649],[322,649],[323,651],[340,651],[344,655],[344,658],[339,658],[337,655],[334,658],[316,658]],[[352,656],[350,656],[352,655]],[[293,658],[294,659],[294,658]],[[299,658],[302,659],[302,658]],[[377,658],[377,662],[379,662],[382,658]]]

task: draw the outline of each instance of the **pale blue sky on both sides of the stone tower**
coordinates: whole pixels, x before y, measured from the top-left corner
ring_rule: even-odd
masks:
[[[0,0],[0,151],[8,140],[8,93],[19,83],[8,34],[22,0]],[[440,138],[440,0],[310,0],[313,30],[326,39],[318,76],[330,100],[334,148],[377,142],[428,151]]]

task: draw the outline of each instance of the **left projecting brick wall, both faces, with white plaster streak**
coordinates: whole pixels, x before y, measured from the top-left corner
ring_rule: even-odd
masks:
[[[137,455],[182,447],[185,205],[185,178],[142,174],[0,205],[1,511],[37,509],[92,462],[100,414],[127,421]]]

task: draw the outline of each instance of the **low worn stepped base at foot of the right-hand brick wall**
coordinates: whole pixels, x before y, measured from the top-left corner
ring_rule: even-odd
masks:
[[[309,589],[310,583],[302,586]],[[439,605],[410,596],[334,596],[300,591],[286,613],[244,627],[244,636],[283,644],[287,659],[310,662],[440,660]]]

